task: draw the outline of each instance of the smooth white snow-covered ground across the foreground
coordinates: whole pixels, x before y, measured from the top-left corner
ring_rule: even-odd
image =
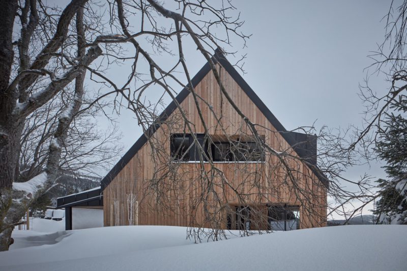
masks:
[[[16,247],[0,253],[0,270],[407,270],[405,225],[314,228],[201,244],[185,236],[186,228],[166,226],[15,231]]]

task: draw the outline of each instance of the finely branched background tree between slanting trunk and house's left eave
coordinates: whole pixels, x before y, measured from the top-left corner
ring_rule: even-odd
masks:
[[[58,116],[67,110],[64,101],[71,97],[54,97],[45,106],[35,110],[25,119],[21,137],[21,154],[16,182],[26,182],[43,172],[48,155],[48,146],[53,138]],[[85,100],[86,102],[86,100]],[[93,123],[100,112],[82,110],[73,116],[67,138],[64,141],[59,168],[62,172],[78,172],[95,175],[110,166],[121,151],[119,133],[115,126],[109,131],[99,131]]]

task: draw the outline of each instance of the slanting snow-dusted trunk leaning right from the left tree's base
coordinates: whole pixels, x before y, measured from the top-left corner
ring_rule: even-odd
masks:
[[[79,111],[82,105],[83,99],[83,82],[85,78],[86,68],[85,66],[92,63],[99,55],[101,55],[102,50],[99,47],[90,48],[88,54],[85,54],[85,36],[84,36],[84,29],[83,29],[83,9],[80,8],[76,15],[76,28],[78,33],[78,58],[84,59],[83,64],[78,66],[74,73],[75,76],[75,92],[70,103],[70,106],[67,110],[59,117],[59,124],[56,128],[54,138],[52,139],[49,150],[48,150],[48,160],[45,169],[46,180],[42,186],[42,188],[38,189],[34,195],[27,194],[23,191],[12,191],[11,189],[7,190],[7,205],[3,207],[2,216],[2,223],[0,225],[0,251],[8,250],[10,244],[11,233],[13,231],[12,227],[8,227],[9,225],[13,225],[17,223],[21,217],[24,215],[26,209],[30,206],[30,204],[39,196],[41,196],[46,190],[52,187],[54,180],[56,179],[58,172],[59,172],[59,163],[62,154],[62,147],[64,146],[65,139],[67,137],[69,126],[72,122],[73,117]],[[65,84],[66,85],[66,84]],[[61,85],[63,88],[65,85]],[[14,102],[15,104],[15,102]],[[22,122],[20,122],[22,123]],[[15,144],[8,144],[7,147],[13,148],[15,155],[15,160],[18,158],[20,153],[20,138],[21,132],[23,128],[22,125],[17,123],[17,127],[13,127],[11,131],[15,133],[15,137],[17,141]],[[16,134],[16,133],[19,133]],[[17,160],[15,161],[14,165],[17,165]],[[15,167],[14,167],[15,168]],[[13,168],[13,170],[14,170]],[[13,180],[15,179],[15,175],[12,178],[12,182],[10,183],[10,188],[12,186]],[[21,195],[17,195],[18,193],[22,193]],[[12,193],[14,193],[12,195]],[[12,199],[18,200],[12,200]],[[7,227],[7,228],[6,228]]]

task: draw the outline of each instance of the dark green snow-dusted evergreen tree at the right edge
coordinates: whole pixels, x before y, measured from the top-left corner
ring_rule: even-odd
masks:
[[[380,200],[374,215],[383,224],[407,224],[407,96],[399,96],[379,127],[376,152],[387,162],[391,180],[379,179]]]

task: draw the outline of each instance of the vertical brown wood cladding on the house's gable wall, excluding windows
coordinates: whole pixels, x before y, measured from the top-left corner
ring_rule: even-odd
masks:
[[[219,64],[217,64],[217,69],[231,99],[250,121],[256,124],[258,133],[264,136],[267,144],[278,152],[284,151],[297,156],[293,148],[276,131],[239,84]],[[195,91],[201,98],[198,99],[198,104],[210,135],[250,134],[250,130],[243,119],[221,95],[212,72],[209,72],[196,85]],[[193,131],[203,133],[205,129],[191,94],[181,103],[181,107],[188,120],[193,124]],[[216,118],[220,118],[220,121],[218,122]],[[165,158],[165,156],[169,157],[170,134],[182,133],[184,129],[184,122],[179,109],[171,114],[167,122],[170,124],[163,124],[151,139],[153,144],[159,145],[162,152],[152,154],[151,143],[147,142],[105,188],[103,195],[105,226],[128,225],[127,195],[131,193],[137,195],[139,225],[210,226],[209,223],[206,223],[205,215],[203,215],[203,203],[196,201],[197,195],[202,193],[200,182],[197,181],[202,173],[200,164],[177,163],[174,165],[177,182],[165,182],[166,177],[160,175],[164,174],[162,173],[163,170],[160,169],[160,165],[163,166],[163,164],[157,160]],[[266,161],[259,163],[215,162],[216,167],[224,173],[230,187],[224,186],[224,184],[223,186],[216,185],[215,182],[213,189],[223,197],[224,201],[227,199],[230,206],[240,204],[239,198],[231,187],[245,195],[245,202],[252,206],[259,206],[256,207],[257,209],[270,203],[301,205],[301,228],[325,226],[327,204],[325,186],[304,163],[295,159],[288,159],[287,161],[293,168],[292,173],[300,180],[296,184],[297,188],[284,180],[286,172],[281,167],[276,168],[278,165],[277,158],[267,155]],[[209,170],[210,165],[204,164],[204,167]],[[168,172],[166,173],[168,174]],[[160,184],[154,184],[152,179],[156,178],[162,178],[161,180],[164,181],[161,181]],[[245,182],[248,179],[255,179],[255,183],[252,181]],[[165,193],[161,193],[157,189],[160,185],[168,187],[164,190]],[[298,193],[298,191],[305,192]],[[119,208],[119,210],[115,208]],[[266,212],[266,210],[261,212]],[[222,228],[227,226],[226,213],[227,209],[222,213],[222,217],[218,218]],[[263,228],[263,226],[259,226],[259,228]]]

